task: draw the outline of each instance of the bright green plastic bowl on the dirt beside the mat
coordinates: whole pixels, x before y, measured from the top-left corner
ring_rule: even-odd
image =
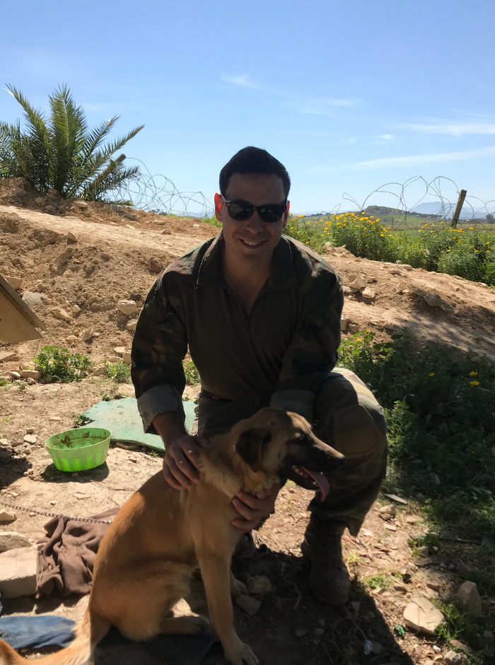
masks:
[[[79,427],[54,434],[45,441],[59,471],[84,471],[107,458],[110,432],[102,427]]]

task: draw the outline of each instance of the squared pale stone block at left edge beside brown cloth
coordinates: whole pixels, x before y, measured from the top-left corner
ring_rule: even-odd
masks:
[[[36,545],[0,554],[0,594],[4,598],[36,593],[37,556]]]

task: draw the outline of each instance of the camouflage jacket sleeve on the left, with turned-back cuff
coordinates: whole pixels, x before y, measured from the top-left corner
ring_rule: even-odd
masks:
[[[144,432],[157,433],[152,422],[158,413],[175,411],[185,417],[186,353],[186,328],[170,303],[162,276],[148,293],[132,340],[131,377]]]

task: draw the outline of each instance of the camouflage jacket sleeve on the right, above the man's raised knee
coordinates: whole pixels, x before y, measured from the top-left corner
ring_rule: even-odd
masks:
[[[340,318],[344,306],[342,282],[327,273],[325,288],[313,289],[291,344],[284,356],[270,406],[313,420],[318,382],[334,369],[339,357]]]

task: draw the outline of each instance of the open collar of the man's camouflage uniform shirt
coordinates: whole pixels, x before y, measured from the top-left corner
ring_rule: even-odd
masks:
[[[199,265],[196,285],[227,289],[227,282],[221,269],[221,253],[223,249],[223,231],[214,238],[203,255]],[[273,253],[272,272],[260,294],[266,291],[285,289],[298,283],[293,264],[293,248],[290,241],[282,236]]]

